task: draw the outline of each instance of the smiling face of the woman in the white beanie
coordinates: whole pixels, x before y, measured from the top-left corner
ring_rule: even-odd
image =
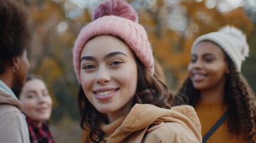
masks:
[[[222,49],[209,41],[196,45],[192,51],[188,67],[193,86],[199,91],[215,89],[224,86],[228,64]]]

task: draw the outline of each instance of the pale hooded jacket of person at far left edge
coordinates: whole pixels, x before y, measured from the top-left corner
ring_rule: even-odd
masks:
[[[0,142],[27,143],[29,130],[25,116],[21,113],[23,105],[10,88],[0,80]]]

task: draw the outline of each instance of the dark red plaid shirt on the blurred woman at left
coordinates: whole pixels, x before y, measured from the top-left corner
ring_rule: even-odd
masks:
[[[29,126],[29,138],[31,143],[55,143],[47,122],[43,122],[41,128],[38,122],[26,117]]]

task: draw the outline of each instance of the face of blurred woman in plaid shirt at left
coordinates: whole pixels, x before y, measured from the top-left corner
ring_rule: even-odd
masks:
[[[39,122],[50,119],[53,102],[41,79],[28,80],[21,89],[19,98],[26,116]]]

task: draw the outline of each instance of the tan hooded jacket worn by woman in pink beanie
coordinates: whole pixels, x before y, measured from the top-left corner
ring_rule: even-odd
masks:
[[[150,104],[135,104],[127,117],[102,125],[101,130],[106,134],[102,142],[109,143],[202,142],[201,123],[195,109],[189,105],[168,110]],[[82,142],[91,142],[87,131],[83,133]]]

